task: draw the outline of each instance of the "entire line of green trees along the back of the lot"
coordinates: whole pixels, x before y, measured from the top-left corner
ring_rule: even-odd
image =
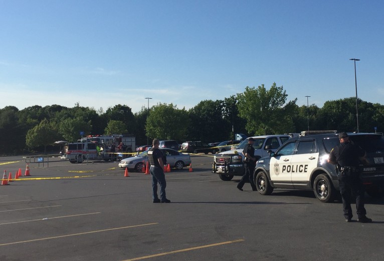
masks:
[[[0,154],[58,150],[57,140],[70,142],[84,135],[133,134],[136,145],[153,138],[219,142],[234,139],[235,133],[265,135],[297,133],[304,130],[338,130],[354,132],[356,100],[353,97],[327,101],[322,108],[296,105],[287,101],[286,91],[274,83],[246,87],[224,100],[204,100],[189,110],[159,103],[149,110],[144,106],[132,113],[128,105],[102,108],[68,108],[60,105],[31,106],[19,110],[15,106],[0,109]],[[384,106],[358,102],[359,132],[382,131]]]

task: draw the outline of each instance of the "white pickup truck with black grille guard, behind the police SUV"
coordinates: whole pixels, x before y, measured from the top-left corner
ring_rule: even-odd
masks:
[[[290,135],[263,135],[252,137],[255,141],[256,160],[268,156],[268,150],[276,151],[284,142],[291,138]],[[237,146],[235,150],[216,154],[212,164],[212,172],[219,174],[221,180],[229,181],[234,176],[244,174],[243,149],[248,143],[248,138]]]

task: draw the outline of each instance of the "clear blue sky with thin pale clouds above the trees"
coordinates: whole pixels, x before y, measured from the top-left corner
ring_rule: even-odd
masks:
[[[384,1],[0,0],[0,108],[189,109],[274,82],[384,104]]]

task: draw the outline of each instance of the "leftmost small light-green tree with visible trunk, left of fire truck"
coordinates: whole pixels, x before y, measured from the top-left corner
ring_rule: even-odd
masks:
[[[57,130],[52,127],[47,119],[44,119],[39,125],[28,131],[26,144],[30,148],[44,146],[44,153],[47,153],[47,145],[53,144],[58,138]]]

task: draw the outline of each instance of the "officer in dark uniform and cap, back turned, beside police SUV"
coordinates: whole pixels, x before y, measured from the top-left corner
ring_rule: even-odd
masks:
[[[337,164],[339,171],[338,181],[341,198],[343,201],[343,211],[346,222],[352,219],[351,193],[356,197],[357,221],[370,223],[372,219],[366,217],[364,208],[364,186],[359,170],[359,158],[365,157],[365,151],[359,146],[349,141],[348,134],[339,134],[340,144],[334,147],[329,154],[328,162]]]

